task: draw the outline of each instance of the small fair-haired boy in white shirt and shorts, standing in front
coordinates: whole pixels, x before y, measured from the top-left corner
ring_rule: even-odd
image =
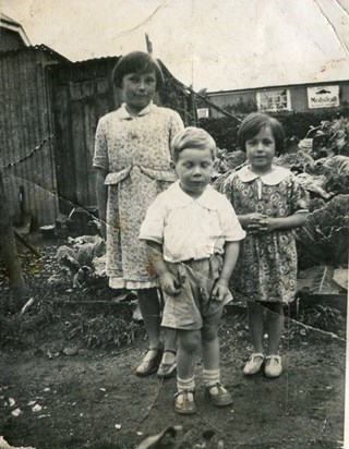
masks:
[[[161,325],[177,329],[174,411],[181,414],[196,411],[200,344],[207,397],[217,406],[232,403],[220,384],[218,324],[231,300],[228,282],[245,232],[228,199],[208,185],[215,155],[215,141],[202,129],[186,128],[173,137],[172,167],[179,180],[156,197],[140,231],[164,291]]]

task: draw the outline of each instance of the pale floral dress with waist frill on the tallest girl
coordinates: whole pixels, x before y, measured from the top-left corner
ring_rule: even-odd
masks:
[[[106,271],[111,288],[156,287],[146,244],[137,236],[149,204],[177,180],[169,148],[182,129],[176,111],[153,104],[137,117],[122,105],[98,122],[93,165],[108,173]]]

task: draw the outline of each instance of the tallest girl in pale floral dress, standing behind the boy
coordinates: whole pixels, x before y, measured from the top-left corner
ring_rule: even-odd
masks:
[[[174,333],[166,332],[163,350],[157,284],[146,244],[137,235],[149,204],[177,180],[169,145],[183,123],[177,112],[153,104],[164,76],[148,53],[122,57],[113,83],[122,89],[124,102],[99,120],[94,156],[99,218],[107,223],[106,269],[111,288],[137,291],[149,345],[136,374],[158,371],[167,377],[176,368]]]

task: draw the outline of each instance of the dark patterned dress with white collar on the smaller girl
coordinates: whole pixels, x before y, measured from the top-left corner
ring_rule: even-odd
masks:
[[[261,213],[276,218],[308,211],[306,193],[282,167],[273,166],[270,173],[258,177],[244,166],[227,178],[222,191],[238,216]],[[297,289],[294,230],[248,232],[240,246],[232,288],[246,300],[291,302]]]

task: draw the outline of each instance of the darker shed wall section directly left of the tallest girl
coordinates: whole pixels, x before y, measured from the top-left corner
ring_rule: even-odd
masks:
[[[64,214],[97,204],[95,133],[99,118],[121,102],[110,80],[117,61],[106,58],[50,68],[59,207]]]

